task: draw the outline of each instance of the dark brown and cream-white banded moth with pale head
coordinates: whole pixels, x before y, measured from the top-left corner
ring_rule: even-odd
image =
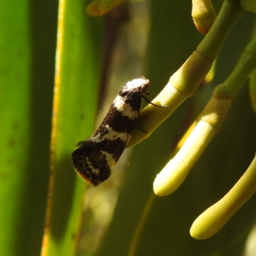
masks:
[[[140,115],[141,100],[147,100],[143,94],[150,94],[147,93],[148,83],[148,79],[141,77],[125,84],[99,129],[87,140],[77,143],[78,148],[71,159],[84,182],[98,186],[111,175],[111,167],[118,162],[131,139],[132,129]]]

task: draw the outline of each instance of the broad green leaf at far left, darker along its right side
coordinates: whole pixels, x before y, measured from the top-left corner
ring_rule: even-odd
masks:
[[[0,254],[39,255],[49,181],[56,2],[0,6]]]

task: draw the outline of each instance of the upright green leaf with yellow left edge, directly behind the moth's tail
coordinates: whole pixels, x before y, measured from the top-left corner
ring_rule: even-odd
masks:
[[[94,127],[101,70],[101,22],[86,15],[83,1],[60,1],[57,35],[52,175],[42,255],[74,255],[85,185],[72,168],[70,154]]]

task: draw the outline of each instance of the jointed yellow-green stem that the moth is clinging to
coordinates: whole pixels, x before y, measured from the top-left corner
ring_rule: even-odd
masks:
[[[228,32],[242,14],[243,10],[239,1],[225,1],[223,3],[216,22],[214,22],[204,40],[198,45],[196,51],[189,56],[184,65],[170,77],[169,83],[153,100],[155,104],[166,105],[168,108],[156,108],[149,104],[143,109],[127,147],[132,147],[148,138],[184,100],[195,93],[212,67],[212,63]],[[141,128],[147,132],[141,131]]]

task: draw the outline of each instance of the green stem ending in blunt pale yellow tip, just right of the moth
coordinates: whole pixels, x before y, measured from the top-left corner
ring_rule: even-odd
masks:
[[[225,83],[216,87],[197,124],[179,152],[169,161],[154,180],[154,192],[159,196],[173,193],[186,179],[189,171],[204,152],[225,120],[236,95],[256,67],[256,35],[246,47],[234,71]]]

